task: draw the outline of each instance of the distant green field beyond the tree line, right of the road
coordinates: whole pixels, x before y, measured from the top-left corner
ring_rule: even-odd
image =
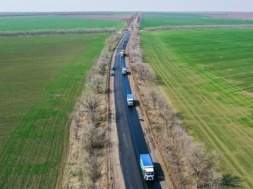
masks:
[[[141,29],[158,26],[253,24],[249,20],[215,19],[190,13],[143,13]]]

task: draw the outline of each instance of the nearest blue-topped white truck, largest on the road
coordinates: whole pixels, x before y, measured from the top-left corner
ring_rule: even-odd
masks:
[[[140,154],[140,166],[144,180],[153,181],[155,172],[150,154]]]

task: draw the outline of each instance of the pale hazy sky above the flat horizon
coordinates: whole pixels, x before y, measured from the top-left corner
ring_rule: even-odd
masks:
[[[253,12],[253,0],[0,0],[0,12],[65,11]]]

